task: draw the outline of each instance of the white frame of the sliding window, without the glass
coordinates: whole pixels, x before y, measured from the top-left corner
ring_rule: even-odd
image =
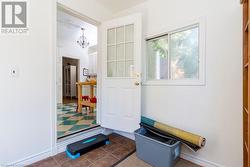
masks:
[[[170,31],[164,31],[163,33],[158,33],[157,35],[148,36],[145,38],[145,59],[144,59],[144,75],[142,84],[145,86],[161,86],[161,85],[180,85],[180,86],[192,86],[192,85],[205,85],[205,37],[206,37],[206,31],[205,31],[205,19],[199,19],[196,21],[193,21],[189,24],[186,24],[185,26],[178,26],[179,28],[171,28]],[[180,28],[181,27],[181,28]],[[171,47],[170,42],[170,36],[171,34],[182,32],[185,30],[189,30],[192,28],[198,27],[199,29],[199,74],[198,79],[171,79],[170,77],[170,70],[168,71],[168,79],[154,79],[154,80],[148,80],[147,79],[147,65],[148,65],[148,55],[146,51],[147,41],[153,38],[158,38],[161,36],[167,35],[168,37],[168,49]],[[170,53],[170,52],[169,52]],[[168,56],[168,61],[170,61],[171,56]],[[170,63],[170,62],[169,62]],[[170,68],[170,67],[169,67]]]

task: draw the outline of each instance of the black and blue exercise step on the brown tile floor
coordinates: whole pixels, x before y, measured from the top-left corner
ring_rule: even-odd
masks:
[[[66,154],[69,158],[76,159],[86,152],[106,144],[109,144],[109,138],[106,135],[98,134],[67,145]]]

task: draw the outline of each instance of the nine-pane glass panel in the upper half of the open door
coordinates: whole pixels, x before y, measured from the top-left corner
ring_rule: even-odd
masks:
[[[131,77],[134,68],[134,25],[107,32],[107,77]]]

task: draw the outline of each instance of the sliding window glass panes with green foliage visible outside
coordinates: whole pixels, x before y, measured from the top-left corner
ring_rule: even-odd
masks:
[[[199,27],[147,40],[147,80],[199,79]]]

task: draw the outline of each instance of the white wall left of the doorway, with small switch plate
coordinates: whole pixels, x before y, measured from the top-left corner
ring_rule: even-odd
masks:
[[[0,166],[51,147],[52,1],[30,1],[29,34],[0,36]],[[12,67],[19,77],[10,77]]]

